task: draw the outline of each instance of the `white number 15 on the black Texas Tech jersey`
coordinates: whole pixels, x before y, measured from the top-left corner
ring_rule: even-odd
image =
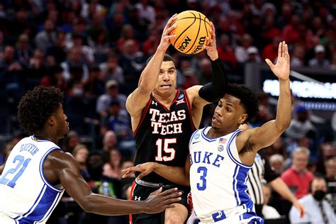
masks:
[[[169,144],[176,143],[176,138],[159,138],[155,143],[157,145],[157,155],[155,156],[155,161],[158,162],[167,162],[172,161],[175,158],[175,150],[172,147],[169,147]],[[162,147],[163,146],[163,147]],[[167,155],[162,157],[162,150],[167,153]]]

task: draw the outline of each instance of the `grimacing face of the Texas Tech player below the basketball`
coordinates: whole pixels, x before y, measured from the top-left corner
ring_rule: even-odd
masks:
[[[155,91],[163,96],[170,96],[176,89],[177,83],[177,69],[174,62],[162,62],[159,69],[159,79]]]

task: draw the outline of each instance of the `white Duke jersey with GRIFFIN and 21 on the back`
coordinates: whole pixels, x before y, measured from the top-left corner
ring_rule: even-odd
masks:
[[[0,223],[45,223],[64,189],[52,186],[43,172],[45,158],[60,150],[50,140],[23,138],[15,145],[0,177]]]

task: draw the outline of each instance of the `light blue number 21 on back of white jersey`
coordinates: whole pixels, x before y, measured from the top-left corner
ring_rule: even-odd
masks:
[[[21,155],[17,155],[14,159],[13,159],[13,164],[16,164],[16,161],[18,161],[18,164],[16,164],[15,168],[9,169],[6,174],[4,174],[4,176],[2,176],[0,178],[0,184],[5,184],[7,186],[10,186],[11,188],[13,188],[16,185],[16,181],[18,180],[19,177],[21,177],[21,175],[23,174],[23,171],[25,171],[28,163],[30,162],[31,159],[26,159],[21,156]],[[18,171],[18,168],[21,169]],[[16,171],[18,171],[16,173]],[[13,179],[9,180],[6,179],[6,176],[8,176],[9,174],[15,174],[16,175],[13,177]]]

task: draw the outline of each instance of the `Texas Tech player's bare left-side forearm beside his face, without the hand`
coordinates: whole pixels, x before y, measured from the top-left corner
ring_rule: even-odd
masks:
[[[138,88],[142,91],[152,92],[155,88],[157,78],[159,77],[159,69],[161,68],[165,53],[165,50],[159,49],[158,47],[157,51],[150,59],[150,62],[148,62],[145,69],[143,69],[138,83]]]

